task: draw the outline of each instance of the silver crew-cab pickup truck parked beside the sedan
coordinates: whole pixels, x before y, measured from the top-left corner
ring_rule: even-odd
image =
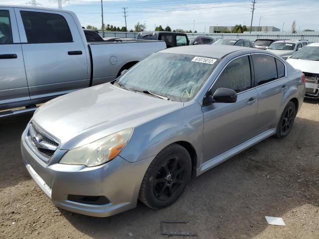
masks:
[[[0,5],[0,117],[113,81],[162,41],[87,42],[74,12]],[[25,107],[18,111],[3,111]]]

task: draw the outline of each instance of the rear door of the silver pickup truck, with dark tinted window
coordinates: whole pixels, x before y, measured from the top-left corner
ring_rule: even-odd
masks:
[[[30,98],[46,98],[89,86],[88,62],[69,13],[15,8]]]

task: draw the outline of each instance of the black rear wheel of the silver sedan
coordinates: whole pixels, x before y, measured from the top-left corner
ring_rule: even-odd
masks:
[[[294,125],[296,114],[297,112],[295,104],[291,101],[288,102],[278,122],[275,137],[284,138],[290,133]]]

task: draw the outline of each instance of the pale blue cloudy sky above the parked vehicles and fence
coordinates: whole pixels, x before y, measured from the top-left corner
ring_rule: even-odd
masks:
[[[0,4],[30,5],[31,0],[0,0]],[[57,8],[56,0],[36,0],[43,7]],[[82,26],[101,27],[101,0],[62,0],[63,9],[74,11]],[[134,29],[139,21],[146,23],[147,30],[169,25],[208,32],[209,26],[250,26],[251,0],[103,0],[104,23],[125,26],[123,7],[127,7],[127,26]],[[275,26],[291,31],[319,31],[319,0],[256,0],[253,25]],[[194,22],[195,21],[195,22]]]

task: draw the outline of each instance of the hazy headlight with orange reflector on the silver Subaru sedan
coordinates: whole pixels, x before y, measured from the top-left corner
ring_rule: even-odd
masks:
[[[62,164],[93,167],[115,158],[129,141],[133,128],[110,134],[92,143],[68,151],[60,160]]]

